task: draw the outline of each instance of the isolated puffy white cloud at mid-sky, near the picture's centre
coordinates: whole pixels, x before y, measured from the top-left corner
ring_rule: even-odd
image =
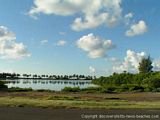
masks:
[[[77,41],[77,46],[87,52],[90,58],[105,57],[106,52],[115,47],[111,40],[101,39],[92,33],[82,36]]]

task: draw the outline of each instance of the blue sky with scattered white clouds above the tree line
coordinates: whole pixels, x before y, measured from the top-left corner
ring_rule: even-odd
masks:
[[[159,0],[0,0],[0,72],[160,70]]]

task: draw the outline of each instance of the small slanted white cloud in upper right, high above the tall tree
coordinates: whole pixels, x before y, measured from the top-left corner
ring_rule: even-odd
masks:
[[[130,29],[126,31],[126,36],[133,37],[137,35],[142,35],[147,32],[148,27],[145,21],[140,20],[137,24],[133,24],[130,26]]]

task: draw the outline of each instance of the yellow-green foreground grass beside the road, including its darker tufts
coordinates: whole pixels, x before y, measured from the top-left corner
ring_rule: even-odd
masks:
[[[130,95],[130,94],[128,94]],[[160,109],[160,101],[132,101],[114,99],[86,99],[83,97],[46,95],[31,98],[28,96],[1,96],[0,106],[42,107],[42,108],[89,108],[89,109]]]

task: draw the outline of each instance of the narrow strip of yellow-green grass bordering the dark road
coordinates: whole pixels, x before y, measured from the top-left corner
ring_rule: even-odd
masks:
[[[43,108],[160,108],[160,102],[130,102],[122,100],[98,101],[77,101],[77,100],[39,100],[27,99],[21,97],[3,97],[0,98],[1,106],[18,107],[43,107]],[[148,104],[149,103],[149,104]]]

